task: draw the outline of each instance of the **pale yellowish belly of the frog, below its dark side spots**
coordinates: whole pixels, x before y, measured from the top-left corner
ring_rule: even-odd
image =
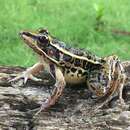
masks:
[[[69,84],[79,84],[85,82],[86,76],[78,76],[77,74],[65,74],[65,81]]]

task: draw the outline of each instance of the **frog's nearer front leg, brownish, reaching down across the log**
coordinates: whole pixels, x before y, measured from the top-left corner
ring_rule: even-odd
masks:
[[[56,78],[55,88],[52,91],[52,95],[44,103],[42,103],[42,106],[40,110],[36,113],[36,115],[40,113],[42,110],[45,110],[49,108],[50,106],[54,105],[64,90],[66,82],[65,82],[62,71],[60,70],[60,68],[56,66],[55,66],[54,71],[55,71],[54,73],[55,73],[55,78]]]

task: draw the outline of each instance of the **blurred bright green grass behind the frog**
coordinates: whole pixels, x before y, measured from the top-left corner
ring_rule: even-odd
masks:
[[[20,30],[48,30],[61,40],[92,51],[98,56],[118,55],[130,59],[130,36],[112,34],[129,31],[129,0],[0,0],[0,64],[30,66],[37,60],[20,40]],[[95,30],[103,7],[100,31]]]

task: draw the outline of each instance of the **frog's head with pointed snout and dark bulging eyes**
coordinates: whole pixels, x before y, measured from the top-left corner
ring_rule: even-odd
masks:
[[[44,51],[51,42],[51,36],[46,29],[40,29],[36,33],[30,31],[21,31],[20,37],[37,53]]]

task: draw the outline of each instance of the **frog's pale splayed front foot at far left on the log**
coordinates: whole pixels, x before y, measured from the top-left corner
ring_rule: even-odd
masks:
[[[14,79],[11,79],[9,82],[15,82],[15,81],[18,81],[20,79],[23,79],[23,83],[24,84],[26,84],[28,79],[31,79],[33,81],[42,81],[42,79],[36,78],[30,72],[25,71],[22,74],[20,74],[17,77],[15,77]]]

